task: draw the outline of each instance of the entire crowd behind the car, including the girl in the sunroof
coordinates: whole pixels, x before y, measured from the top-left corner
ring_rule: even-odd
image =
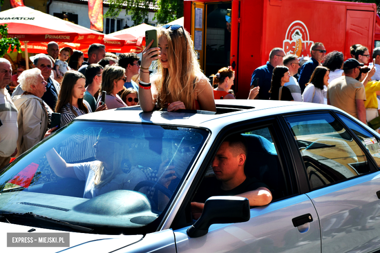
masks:
[[[214,98],[235,99],[232,68],[212,75],[211,85],[190,34],[179,28],[161,27],[158,47],[152,48],[150,41],[141,60],[134,53],[116,56],[95,43],[85,61],[83,52],[59,50],[52,41],[47,54],[31,57],[33,69],[20,66],[12,76],[10,62],[0,58],[0,107],[5,108],[0,110],[0,168],[80,115],[137,104],[145,112],[215,112]],[[359,44],[351,47],[352,58],[346,61],[342,52],[326,55],[321,42],[311,45],[310,54],[311,58],[299,59],[273,48],[266,65],[253,71],[247,98],[331,104],[363,123],[379,116],[380,48],[375,48],[369,66],[364,66],[370,58],[368,49]],[[12,96],[8,85],[15,87]],[[51,124],[54,113],[60,114],[57,125]]]

